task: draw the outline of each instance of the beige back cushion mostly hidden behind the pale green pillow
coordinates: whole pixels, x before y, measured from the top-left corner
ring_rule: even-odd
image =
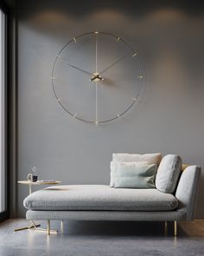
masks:
[[[112,161],[147,161],[149,164],[160,164],[162,154],[112,154]]]

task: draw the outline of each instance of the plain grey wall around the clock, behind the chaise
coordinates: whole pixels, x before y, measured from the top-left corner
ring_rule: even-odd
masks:
[[[18,1],[18,180],[36,166],[64,184],[108,184],[113,152],[180,154],[204,167],[204,13],[162,1]],[[169,3],[169,4],[168,4]],[[138,49],[144,90],[119,121],[92,126],[60,108],[51,87],[56,53],[90,30]],[[84,62],[86,60],[81,60]],[[204,217],[204,174],[196,216]],[[28,187],[18,186],[18,215]]]

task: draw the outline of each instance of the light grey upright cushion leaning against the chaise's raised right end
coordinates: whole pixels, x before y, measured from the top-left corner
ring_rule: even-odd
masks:
[[[174,193],[182,170],[182,159],[177,154],[167,154],[156,174],[156,188],[163,193]]]

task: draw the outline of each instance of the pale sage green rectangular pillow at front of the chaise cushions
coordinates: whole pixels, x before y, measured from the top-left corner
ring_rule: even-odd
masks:
[[[156,165],[118,164],[118,175],[114,187],[152,188],[155,187]]]

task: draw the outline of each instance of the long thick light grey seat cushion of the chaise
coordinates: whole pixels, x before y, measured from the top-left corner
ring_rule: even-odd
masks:
[[[173,194],[156,188],[113,188],[105,185],[47,187],[23,201],[29,210],[169,211],[178,206]]]

